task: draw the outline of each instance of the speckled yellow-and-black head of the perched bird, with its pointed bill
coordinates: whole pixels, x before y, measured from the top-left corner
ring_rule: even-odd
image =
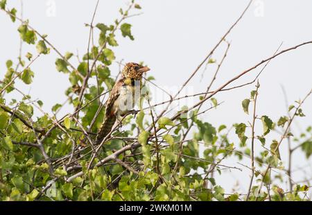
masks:
[[[143,74],[149,70],[150,68],[144,67],[135,62],[128,62],[127,64],[125,64],[125,67],[121,72],[121,76],[127,79],[129,78],[132,80],[141,80]]]

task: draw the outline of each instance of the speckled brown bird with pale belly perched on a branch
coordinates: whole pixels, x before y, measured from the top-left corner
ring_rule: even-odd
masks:
[[[96,144],[101,144],[110,133],[117,119],[130,113],[135,107],[141,91],[142,76],[150,68],[135,62],[128,62],[121,71],[121,78],[116,81],[105,105],[105,118],[96,135]]]

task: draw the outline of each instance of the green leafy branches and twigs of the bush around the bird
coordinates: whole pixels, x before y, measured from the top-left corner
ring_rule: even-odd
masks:
[[[304,101],[289,108],[289,117],[276,121],[266,113],[253,117],[259,86],[252,89],[250,98],[237,105],[262,123],[263,132],[254,135],[250,135],[254,125],[248,121],[214,126],[201,120],[198,116],[207,111],[200,110],[201,104],[182,108],[175,117],[155,114],[150,105],[141,106],[135,115],[123,119],[121,129],[115,128],[103,144],[96,145],[94,139],[104,117],[102,98],[115,83],[110,68],[116,59],[114,47],[119,46],[116,35],[135,40],[128,17],[141,6],[132,1],[119,10],[121,17],[113,24],[91,24],[99,39],[78,65],[71,65],[73,53],[59,53],[55,70],[68,76],[65,94],[74,112],[58,119],[54,114],[62,105],[55,103],[53,114],[48,114],[42,110],[44,100],[33,101],[17,85],[19,79],[19,84],[31,85],[36,74],[32,64],[55,48],[46,35],[19,19],[17,10],[9,8],[5,0],[0,1],[0,8],[12,22],[21,22],[17,29],[21,40],[37,51],[6,61],[7,71],[1,73],[0,200],[306,200],[309,184],[293,184],[289,191],[279,185],[291,177],[283,171],[287,169],[279,153],[285,139],[295,144],[290,153],[298,148],[306,159],[312,154],[311,127],[299,137],[293,137],[289,129],[293,118],[304,117]],[[212,58],[207,60],[207,64],[214,63]],[[88,83],[91,78],[96,83]],[[148,89],[148,80],[154,79],[146,77],[144,87]],[[11,92],[19,92],[23,98],[8,101],[6,94]],[[198,102],[220,105],[216,98],[207,98],[208,94],[201,94]],[[150,94],[142,94],[141,103],[149,101]],[[42,114],[34,116],[34,109]],[[275,131],[285,134],[272,139]],[[229,139],[232,132],[237,137]],[[254,151],[252,144],[261,150]],[[233,159],[254,161],[252,173],[225,162]],[[228,170],[254,175],[248,193],[226,193],[218,184],[216,174],[222,176]]]

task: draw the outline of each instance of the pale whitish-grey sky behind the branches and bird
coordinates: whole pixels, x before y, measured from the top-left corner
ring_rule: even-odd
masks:
[[[135,41],[117,35],[119,46],[114,48],[116,60],[125,62],[144,61],[150,68],[150,75],[156,78],[155,83],[164,88],[178,88],[190,76],[212,47],[220,40],[234,21],[239,17],[248,0],[171,0],[171,1],[137,1],[143,8],[142,15],[127,20],[132,24],[132,35]],[[55,4],[55,12],[53,6]],[[19,1],[8,0],[8,5],[16,6],[20,11]],[[96,0],[55,0],[55,1],[24,1],[24,18],[30,20],[31,26],[37,31],[49,35],[48,40],[61,52],[71,51],[82,56],[87,50],[89,23],[96,5]],[[110,24],[119,17],[119,8],[125,8],[128,1],[101,0],[95,22]],[[51,8],[52,7],[52,8]],[[220,69],[220,74],[212,89],[216,89],[241,71],[252,67],[257,62],[272,55],[283,42],[281,49],[312,40],[312,1],[310,0],[254,0],[245,17],[227,37],[231,47],[227,58]],[[19,22],[12,24],[10,18],[0,12],[1,40],[0,40],[0,76],[5,70],[8,59],[16,61],[19,53]],[[216,51],[214,58],[220,60],[226,45],[223,44]],[[23,54],[35,50],[24,45]],[[258,114],[266,114],[273,120],[286,114],[286,105],[281,86],[284,86],[289,103],[303,98],[311,89],[312,79],[312,44],[301,47],[275,58],[259,77],[260,90]],[[25,86],[19,83],[19,89],[30,92],[33,98],[40,98],[44,102],[44,110],[49,112],[55,103],[65,101],[64,90],[69,86],[67,75],[55,70],[54,51],[35,61],[32,69],[35,71],[34,83]],[[73,60],[73,64],[77,62]],[[112,66],[112,74],[117,74],[118,66]],[[200,70],[189,84],[196,92],[203,92],[211,80],[215,66],[207,67],[207,71]],[[240,85],[253,80],[259,69],[237,80],[231,86]],[[153,88],[153,86],[151,86]],[[211,110],[201,118],[214,126],[226,123],[247,123],[250,116],[241,108],[241,101],[250,96],[254,85],[236,89],[231,92],[221,92],[216,95],[218,101],[224,101],[216,110]],[[209,104],[208,104],[209,105]],[[206,106],[208,107],[208,106]],[[293,133],[298,134],[312,122],[312,98],[303,106],[306,117],[297,119],[293,126]],[[70,112],[62,110],[61,114]],[[257,132],[262,132],[261,124]],[[278,136],[276,136],[277,138]],[[237,137],[232,139],[238,142]],[[260,149],[260,148],[259,148]],[[286,150],[286,141],[281,144],[281,151]],[[283,155],[283,153],[282,153]],[[283,161],[286,161],[284,154]],[[235,160],[228,160],[226,164],[236,164]],[[250,160],[243,164],[250,165]],[[309,164],[306,166],[306,164]],[[285,164],[286,165],[286,164]],[[293,168],[305,166],[306,177],[312,177],[311,159],[306,161],[304,154],[298,151],[294,155]],[[245,192],[250,173],[243,168],[243,173],[232,171],[218,178],[227,191],[231,191],[233,184],[239,181],[241,191]],[[302,180],[302,171],[297,171],[294,180]],[[281,184],[282,185],[282,184]]]

